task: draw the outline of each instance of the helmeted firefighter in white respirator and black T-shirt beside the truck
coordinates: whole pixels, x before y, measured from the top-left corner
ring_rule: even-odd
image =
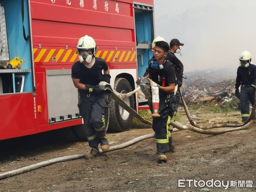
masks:
[[[73,84],[79,91],[79,111],[84,119],[87,139],[91,147],[90,153],[85,155],[87,159],[99,154],[99,144],[104,152],[109,148],[104,119],[109,103],[105,91],[99,89],[99,82],[110,83],[111,76],[106,61],[95,57],[95,47],[93,38],[85,35],[79,39],[76,46],[79,61],[73,64],[71,75]]]

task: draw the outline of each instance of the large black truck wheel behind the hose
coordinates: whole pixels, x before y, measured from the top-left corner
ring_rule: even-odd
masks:
[[[131,92],[131,85],[125,78],[116,78],[114,89],[118,93]],[[134,98],[130,96],[124,99],[125,103],[134,108]],[[132,125],[133,116],[124,108],[120,107],[115,100],[111,99],[109,131],[122,132],[128,131]]]

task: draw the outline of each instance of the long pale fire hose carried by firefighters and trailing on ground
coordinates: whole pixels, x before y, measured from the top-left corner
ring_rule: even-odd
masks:
[[[153,81],[151,81],[150,79],[148,79],[148,82],[151,85],[153,84]],[[122,108],[124,108],[129,113],[132,113],[132,115],[134,115],[134,117],[136,119],[140,120],[141,122],[145,123],[146,125],[152,125],[152,123],[150,121],[147,121],[147,120],[143,119],[142,116],[140,116],[136,111],[134,111],[131,107],[129,107],[123,101],[123,99],[125,97],[131,96],[132,94],[136,93],[140,88],[141,88],[141,90],[144,90],[143,93],[150,99],[150,94],[145,92],[146,88],[145,88],[145,86],[143,86],[143,83],[142,83],[141,87],[138,86],[137,89],[135,89],[134,91],[132,91],[130,93],[122,94],[122,93],[118,93],[115,90],[113,90],[111,88],[110,84],[107,84],[105,82],[100,82],[100,84],[99,84],[99,88],[100,89],[102,89],[102,90],[107,90],[107,89],[110,90],[111,94],[112,94],[112,98]],[[180,131],[180,130],[190,130],[190,131],[194,131],[194,132],[197,132],[197,133],[200,133],[200,134],[223,134],[223,133],[230,132],[230,131],[238,131],[238,130],[242,130],[242,129],[248,128],[254,122],[253,120],[255,119],[255,116],[256,116],[256,113],[255,113],[256,103],[255,103],[253,105],[253,110],[252,110],[252,113],[250,114],[249,119],[247,120],[247,122],[244,123],[243,126],[241,126],[241,127],[237,127],[237,126],[235,127],[234,126],[235,128],[229,128],[229,129],[225,129],[225,130],[221,130],[221,131],[205,130],[205,129],[202,129],[202,128],[198,128],[198,125],[192,120],[192,118],[191,118],[191,116],[189,114],[189,110],[188,110],[188,108],[186,106],[186,103],[183,100],[181,91],[180,91],[180,96],[181,96],[181,100],[182,100],[182,103],[183,103],[183,106],[184,106],[184,110],[186,112],[186,116],[189,119],[189,122],[191,123],[191,125],[189,125],[189,124],[181,125],[178,122],[171,121],[170,125],[175,127],[175,128],[173,128],[173,132]],[[217,125],[217,126],[212,126],[212,127],[209,127],[209,128],[224,128],[224,127],[220,127],[220,126],[221,125]],[[226,126],[232,126],[232,125],[226,124]],[[139,142],[141,140],[149,139],[149,138],[152,138],[152,137],[154,137],[154,134],[146,134],[146,135],[137,137],[137,138],[135,138],[133,140],[130,140],[130,141],[126,142],[126,143],[122,143],[122,144],[119,144],[119,145],[111,146],[108,149],[108,151],[114,151],[114,150],[122,149],[122,148],[128,147],[130,145],[133,145],[134,143],[137,143],[137,142]],[[99,151],[100,151],[100,153],[103,152],[101,149]],[[85,154],[87,154],[87,153],[89,153],[89,152],[86,152]],[[52,164],[55,164],[55,163],[61,163],[61,162],[64,162],[64,161],[76,160],[76,159],[84,158],[85,154],[75,154],[75,155],[69,155],[69,156],[65,156],[65,157],[58,157],[58,158],[55,158],[55,159],[46,160],[46,161],[43,161],[43,162],[40,162],[40,163],[36,163],[36,164],[30,165],[30,166],[25,166],[23,168],[15,169],[15,170],[12,170],[12,171],[9,171],[9,172],[4,172],[4,173],[0,174],[0,180],[6,179],[8,177],[15,176],[15,175],[19,175],[19,174],[22,174],[22,173],[30,172],[32,170],[39,169],[39,168],[45,167],[45,166],[49,166],[49,165],[52,165]]]

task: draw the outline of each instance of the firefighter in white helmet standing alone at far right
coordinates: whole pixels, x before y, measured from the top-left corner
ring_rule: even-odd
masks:
[[[251,54],[248,51],[241,52],[239,56],[240,66],[237,69],[235,96],[240,99],[241,116],[244,123],[250,116],[249,101],[255,103],[256,66],[251,64]],[[239,87],[240,93],[239,93]]]

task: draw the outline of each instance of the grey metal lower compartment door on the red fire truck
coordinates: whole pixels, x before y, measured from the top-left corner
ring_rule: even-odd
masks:
[[[78,118],[78,91],[71,70],[47,70],[46,75],[49,122]]]

